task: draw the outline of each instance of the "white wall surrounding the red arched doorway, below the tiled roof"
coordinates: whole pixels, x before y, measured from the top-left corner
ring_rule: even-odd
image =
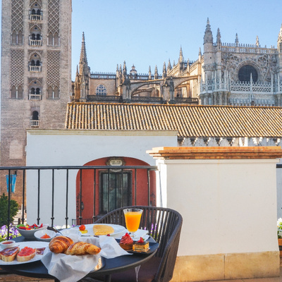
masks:
[[[154,166],[147,149],[177,146],[176,131],[27,130],[27,166],[82,166],[103,157],[132,157]],[[68,217],[75,219],[75,178],[69,171]],[[54,224],[65,224],[66,172],[54,171]],[[37,171],[27,171],[27,221],[37,219]],[[51,223],[51,171],[40,175],[40,222]]]

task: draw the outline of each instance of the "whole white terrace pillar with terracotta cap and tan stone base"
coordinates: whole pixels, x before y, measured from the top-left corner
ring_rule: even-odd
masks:
[[[148,153],[159,166],[162,203],[183,216],[172,281],[279,276],[281,147],[159,147]]]

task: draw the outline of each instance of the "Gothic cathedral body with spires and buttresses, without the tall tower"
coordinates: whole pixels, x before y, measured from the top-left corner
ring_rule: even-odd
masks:
[[[195,61],[184,60],[182,48],[178,62],[168,61],[159,74],[149,66],[138,74],[123,62],[116,73],[91,73],[87,63],[85,35],[75,82],[73,102],[131,102],[156,104],[202,104],[231,106],[281,106],[282,26],[277,48],[255,44],[221,42],[221,33],[212,35],[209,19],[204,31],[204,53]]]

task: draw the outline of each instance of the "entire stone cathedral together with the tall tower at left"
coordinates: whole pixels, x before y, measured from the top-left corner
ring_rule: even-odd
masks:
[[[91,72],[82,34],[72,81],[71,13],[71,0],[2,1],[1,166],[25,166],[27,130],[67,129],[69,102],[282,106],[282,26],[277,46],[262,47],[258,37],[254,44],[238,35],[223,43],[219,29],[214,40],[207,19],[202,49],[189,54],[194,61],[180,47],[178,61],[164,62],[160,72],[149,66],[147,74],[125,61],[112,73]]]

